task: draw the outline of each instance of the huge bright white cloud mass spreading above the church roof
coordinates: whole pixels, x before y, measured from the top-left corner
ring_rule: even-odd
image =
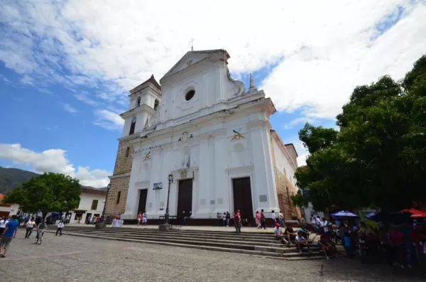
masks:
[[[0,30],[0,60],[71,89],[102,87],[98,97],[85,97],[92,105],[95,98],[122,104],[126,90],[151,73],[161,77],[195,38],[195,50],[228,50],[237,77],[277,64],[261,83],[277,109],[330,119],[356,85],[385,74],[398,79],[425,53],[422,3],[9,1],[0,11],[7,26]],[[380,36],[377,28],[397,18],[398,6],[403,18]],[[60,75],[62,67],[72,74]]]

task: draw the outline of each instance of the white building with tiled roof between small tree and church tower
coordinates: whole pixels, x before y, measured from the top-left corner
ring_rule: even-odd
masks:
[[[82,187],[80,204],[77,209],[70,211],[70,223],[78,223],[77,217],[80,217],[80,223],[82,224],[85,222],[87,217],[100,217],[104,210],[106,195],[107,191],[105,190]]]

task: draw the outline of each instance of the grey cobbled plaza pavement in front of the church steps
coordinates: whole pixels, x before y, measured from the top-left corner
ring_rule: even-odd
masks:
[[[34,235],[34,234],[33,234]],[[33,237],[32,235],[32,237]],[[130,281],[425,281],[388,267],[350,259],[283,261],[259,256],[127,243],[46,233],[43,244],[18,231],[9,256],[0,259],[1,282]]]

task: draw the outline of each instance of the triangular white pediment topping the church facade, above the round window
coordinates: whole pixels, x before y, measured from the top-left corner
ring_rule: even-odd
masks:
[[[198,63],[209,58],[221,58],[225,56],[225,60],[229,58],[226,50],[202,50],[202,51],[189,51],[176,63],[161,79],[160,83],[163,84],[165,78],[175,75],[176,73],[186,70],[189,67],[197,65]]]

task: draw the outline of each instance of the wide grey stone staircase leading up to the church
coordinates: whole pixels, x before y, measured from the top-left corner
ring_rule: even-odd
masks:
[[[48,230],[48,232],[55,231],[55,226],[51,226],[50,230]],[[269,233],[242,232],[241,234],[235,234],[234,232],[180,229],[160,232],[158,229],[143,227],[106,227],[104,229],[94,229],[93,225],[67,225],[62,230],[62,234],[267,256],[275,259],[301,260],[324,258],[319,253],[316,243],[311,244],[312,254],[309,254],[307,250],[299,254],[295,246],[283,246],[283,244],[273,239],[273,234]]]

